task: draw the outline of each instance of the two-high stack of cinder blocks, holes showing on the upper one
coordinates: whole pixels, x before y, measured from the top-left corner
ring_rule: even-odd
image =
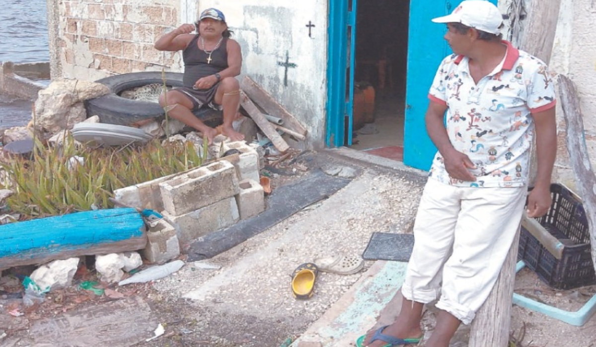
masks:
[[[240,193],[234,165],[217,161],[172,180],[159,183],[163,217],[171,223],[181,244],[230,226],[240,214]]]

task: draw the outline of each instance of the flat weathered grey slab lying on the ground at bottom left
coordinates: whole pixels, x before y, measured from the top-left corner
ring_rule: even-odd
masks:
[[[34,321],[29,336],[37,347],[128,347],[154,336],[159,323],[147,302],[131,297]]]

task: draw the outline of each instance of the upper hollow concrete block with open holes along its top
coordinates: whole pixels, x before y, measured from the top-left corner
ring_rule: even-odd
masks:
[[[159,183],[163,208],[181,216],[240,192],[234,165],[216,161],[175,179]]]

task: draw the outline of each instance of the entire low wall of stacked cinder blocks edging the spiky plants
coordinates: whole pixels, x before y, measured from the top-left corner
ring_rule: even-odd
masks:
[[[224,149],[238,153],[114,192],[125,205],[158,211],[164,217],[151,224],[144,250],[147,260],[175,258],[182,245],[265,210],[257,151],[244,142],[225,143]]]

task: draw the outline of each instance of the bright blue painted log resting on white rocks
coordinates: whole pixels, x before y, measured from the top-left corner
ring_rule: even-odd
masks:
[[[147,233],[134,208],[76,212],[0,226],[0,270],[82,255],[145,248]]]

